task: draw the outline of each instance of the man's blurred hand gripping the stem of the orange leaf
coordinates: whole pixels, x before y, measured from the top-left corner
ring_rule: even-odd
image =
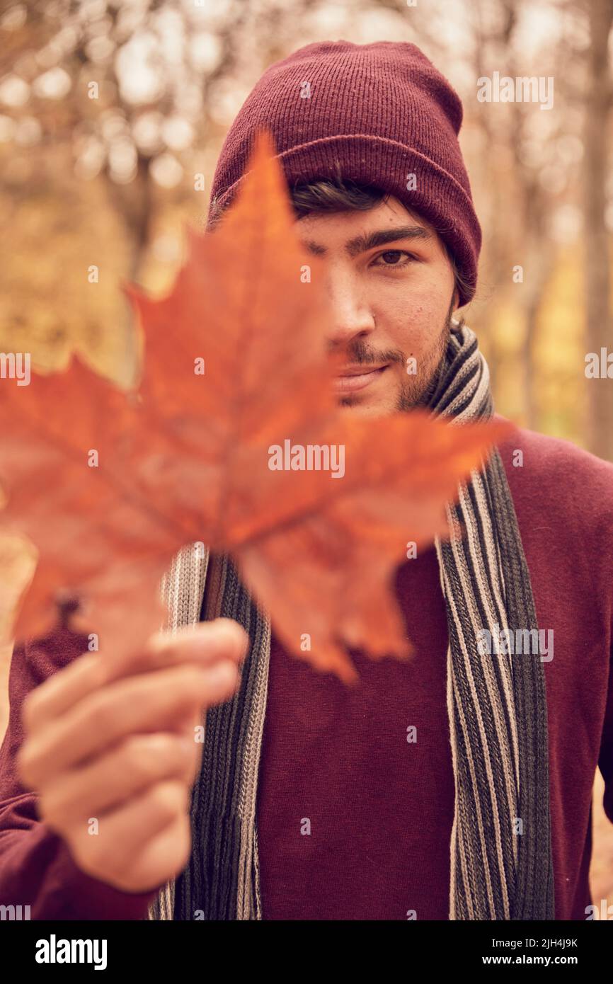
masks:
[[[215,619],[157,633],[119,662],[84,653],[28,695],[20,777],[86,874],[148,892],[185,867],[195,727],[236,691],[248,644]]]

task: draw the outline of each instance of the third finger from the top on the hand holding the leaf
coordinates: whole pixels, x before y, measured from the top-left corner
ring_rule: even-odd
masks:
[[[58,776],[40,800],[40,818],[50,825],[76,826],[162,779],[175,778],[191,785],[195,756],[195,742],[185,734],[132,735],[90,765]]]

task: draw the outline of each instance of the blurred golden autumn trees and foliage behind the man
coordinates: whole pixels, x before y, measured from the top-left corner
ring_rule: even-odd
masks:
[[[2,0],[0,350],[56,369],[76,349],[127,382],[138,342],[121,283],[170,285],[262,72],[311,41],[412,41],[464,106],[484,241],[462,313],[497,409],[613,461],[613,380],[584,375],[587,352],[613,352],[613,0],[411,3]],[[480,102],[477,79],[495,71],[553,77],[553,108]],[[597,787],[592,891],[613,901],[600,802]]]

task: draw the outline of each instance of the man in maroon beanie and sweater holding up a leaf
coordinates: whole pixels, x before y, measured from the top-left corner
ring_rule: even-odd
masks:
[[[480,246],[460,122],[413,45],[338,41],[272,66],[225,140],[210,228],[268,126],[327,261],[347,412],[491,415],[452,318]],[[290,657],[228,558],[192,546],[163,587],[194,636],[157,637],[115,679],[68,632],[16,649],[0,901],[34,918],[584,919],[598,765],[613,821],[613,465],[520,430],[459,495],[461,543],[398,569],[413,660],[352,653],[356,689]],[[202,708],[201,758],[180,738]]]

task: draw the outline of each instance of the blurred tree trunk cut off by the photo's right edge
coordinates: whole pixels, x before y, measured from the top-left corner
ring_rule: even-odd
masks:
[[[588,352],[613,351],[608,235],[604,213],[611,111],[608,40],[613,0],[587,0],[590,46],[585,92],[583,211],[585,235],[585,342]],[[613,380],[585,381],[588,447],[613,461]]]

